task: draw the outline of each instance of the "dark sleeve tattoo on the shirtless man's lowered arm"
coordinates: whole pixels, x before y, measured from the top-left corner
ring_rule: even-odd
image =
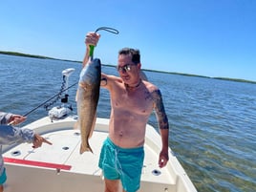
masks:
[[[154,103],[155,103],[155,112],[159,120],[160,129],[169,129],[168,118],[165,114],[162,97],[160,90],[156,90],[152,93]]]

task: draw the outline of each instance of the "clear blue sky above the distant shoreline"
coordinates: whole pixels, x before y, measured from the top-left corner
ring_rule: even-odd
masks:
[[[0,51],[80,61],[101,26],[104,64],[133,47],[143,69],[256,81],[255,0],[0,1]]]

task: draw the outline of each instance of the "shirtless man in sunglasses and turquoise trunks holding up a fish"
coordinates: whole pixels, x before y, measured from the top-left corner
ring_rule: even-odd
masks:
[[[99,37],[95,32],[87,33],[84,66],[90,45],[96,46]],[[101,74],[101,87],[108,89],[111,96],[111,116],[109,137],[103,143],[98,165],[103,170],[105,192],[117,192],[119,180],[123,191],[135,192],[139,190],[148,118],[154,110],[162,141],[160,168],[169,160],[169,124],[160,90],[140,77],[139,50],[122,49],[117,60],[119,77]]]

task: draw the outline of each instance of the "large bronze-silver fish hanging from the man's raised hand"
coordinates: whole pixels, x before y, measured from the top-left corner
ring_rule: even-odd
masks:
[[[93,150],[89,144],[96,124],[96,107],[99,98],[101,62],[95,58],[89,61],[80,73],[76,93],[78,126],[81,133],[80,154]]]

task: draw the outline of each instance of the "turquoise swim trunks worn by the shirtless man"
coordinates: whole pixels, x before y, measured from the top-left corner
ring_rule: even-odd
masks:
[[[144,148],[120,148],[111,139],[105,139],[98,166],[108,180],[120,180],[127,192],[139,190],[144,160]]]

